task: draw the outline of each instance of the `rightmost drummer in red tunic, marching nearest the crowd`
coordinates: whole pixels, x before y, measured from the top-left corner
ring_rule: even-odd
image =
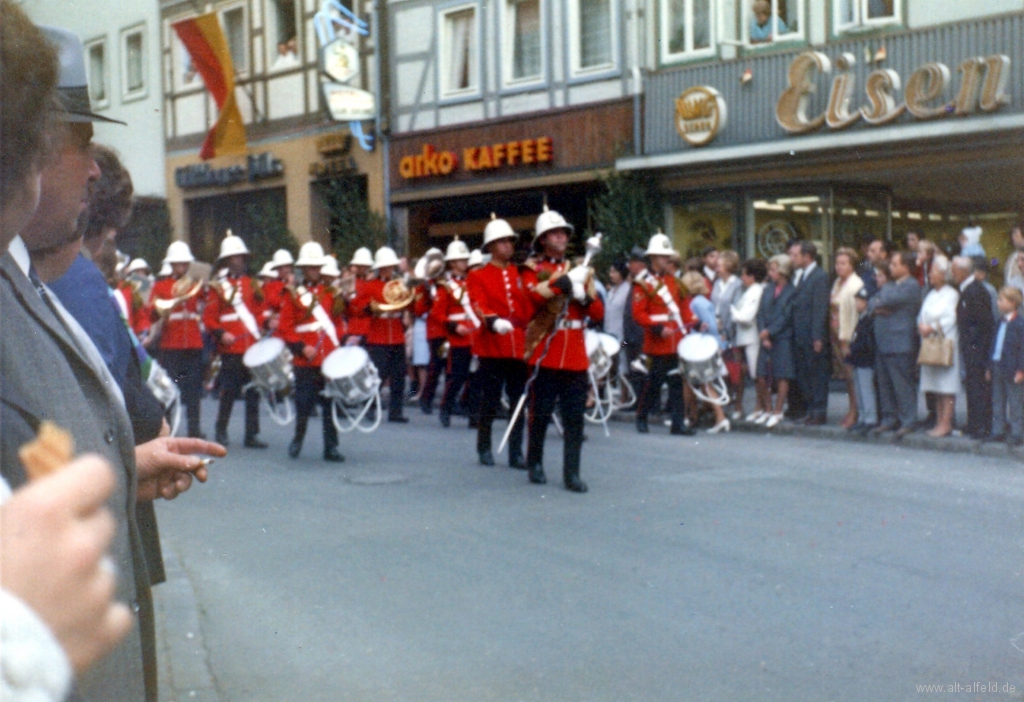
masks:
[[[683,378],[669,374],[679,367],[676,348],[693,325],[693,314],[680,293],[679,280],[671,272],[675,252],[669,237],[660,232],[651,236],[645,254],[650,270],[642,271],[633,282],[633,319],[644,330],[643,352],[650,363],[637,403],[637,431],[649,431],[647,416],[660,400],[662,385],[668,383],[671,433],[690,436],[694,431],[683,422]]]

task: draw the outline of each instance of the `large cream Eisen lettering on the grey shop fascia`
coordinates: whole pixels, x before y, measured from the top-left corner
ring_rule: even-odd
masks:
[[[948,115],[973,115],[980,111],[993,113],[1010,101],[1007,81],[1010,79],[1010,57],[1001,54],[977,56],[959,64],[959,90],[951,102],[942,102],[950,83],[949,68],[933,61],[914,71],[906,81],[903,101],[896,93],[901,89],[899,74],[892,69],[880,69],[867,77],[864,91],[867,104],[851,107],[857,78],[853,67],[857,59],[843,53],[836,59],[837,74],[824,112],[807,115],[810,95],[815,91],[815,74],[831,73],[831,61],[819,51],[802,53],[790,64],[790,87],[778,98],[775,119],[791,134],[806,134],[827,126],[846,129],[863,120],[868,125],[889,124],[904,113],[918,120],[934,120]]]

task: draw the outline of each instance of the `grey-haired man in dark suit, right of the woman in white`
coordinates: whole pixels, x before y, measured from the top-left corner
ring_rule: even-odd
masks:
[[[952,263],[953,281],[961,289],[956,328],[964,361],[967,431],[971,438],[984,439],[992,427],[992,384],[985,371],[995,338],[995,319],[988,291],[975,277],[974,261],[957,256]]]

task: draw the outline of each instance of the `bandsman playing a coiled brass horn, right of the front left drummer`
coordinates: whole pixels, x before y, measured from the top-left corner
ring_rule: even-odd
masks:
[[[402,413],[406,401],[406,327],[402,316],[414,301],[414,295],[396,277],[398,257],[389,247],[381,247],[374,254],[377,279],[366,280],[356,294],[353,307],[370,312],[370,330],[367,350],[381,375],[381,383],[390,382],[388,422],[404,424],[409,418]]]

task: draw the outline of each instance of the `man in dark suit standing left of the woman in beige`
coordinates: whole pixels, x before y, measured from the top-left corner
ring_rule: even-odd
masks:
[[[790,250],[797,268],[793,296],[793,357],[800,394],[807,404],[806,424],[820,426],[828,410],[831,353],[828,347],[828,274],[817,263],[818,250],[800,242]]]

